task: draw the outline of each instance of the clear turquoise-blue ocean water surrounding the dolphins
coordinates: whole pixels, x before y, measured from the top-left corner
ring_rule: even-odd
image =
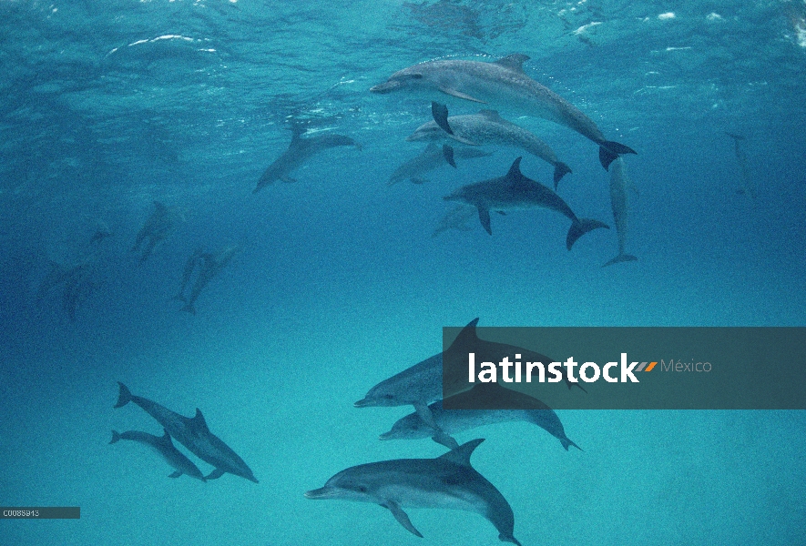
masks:
[[[566,218],[545,210],[493,215],[492,237],[472,217],[432,238],[442,197],[504,175],[511,148],[388,185],[431,113],[369,88],[427,60],[515,52],[638,151],[638,261],[601,267],[615,229],[567,251]],[[443,326],[806,326],[804,72],[802,0],[0,0],[0,504],[81,507],[0,521],[0,543],[497,543],[477,514],[411,509],[418,539],[378,506],[303,493],[444,452],[377,439],[410,407],[352,407],[439,352]],[[558,191],[576,213],[612,225],[597,147],[510,118],[573,168]],[[362,149],[325,150],[253,194],[292,123]],[[726,132],[744,136],[739,153]],[[523,170],[550,184],[536,157]],[[748,181],[754,197],[736,191]],[[139,263],[154,201],[174,229]],[[197,314],[181,312],[187,258],[230,245]],[[77,292],[37,294],[51,262],[88,264]],[[113,429],[161,434],[134,405],[113,409],[117,381],[201,409],[260,483],[170,480],[153,452],[108,445]],[[584,451],[526,423],[458,435],[486,439],[474,468],[524,546],[803,543],[803,411],[558,414]]]

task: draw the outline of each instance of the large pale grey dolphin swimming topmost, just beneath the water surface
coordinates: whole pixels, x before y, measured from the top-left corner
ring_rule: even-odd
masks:
[[[637,153],[630,147],[607,140],[593,120],[563,97],[526,76],[528,56],[514,54],[494,63],[481,61],[427,61],[395,72],[373,93],[409,90],[424,92],[432,100],[437,92],[464,100],[489,104],[520,115],[542,117],[575,130],[599,145],[602,167],[622,154]]]

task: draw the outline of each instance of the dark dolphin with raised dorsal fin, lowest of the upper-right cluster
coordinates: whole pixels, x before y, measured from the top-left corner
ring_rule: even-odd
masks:
[[[515,159],[504,177],[468,184],[455,190],[451,195],[445,196],[444,199],[476,207],[479,221],[490,235],[493,235],[492,227],[490,227],[490,210],[504,212],[518,208],[543,207],[559,212],[571,220],[571,227],[568,228],[566,237],[568,250],[574,246],[576,239],[588,231],[598,227],[610,228],[598,220],[576,217],[574,211],[568,207],[562,197],[521,173],[521,159],[522,157]]]

